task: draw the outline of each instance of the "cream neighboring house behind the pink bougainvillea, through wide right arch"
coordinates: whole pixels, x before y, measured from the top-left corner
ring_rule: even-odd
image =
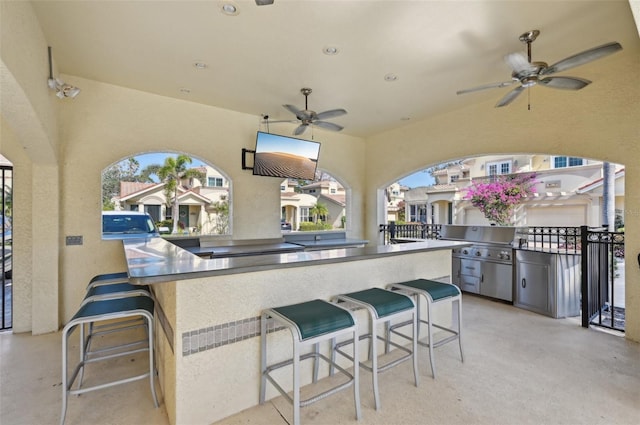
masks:
[[[407,222],[478,224],[489,221],[465,200],[474,181],[535,172],[536,194],[517,208],[517,226],[599,226],[602,221],[602,162],[549,155],[471,158],[433,173],[436,183],[405,193]],[[624,210],[624,170],[616,168],[615,208]]]

